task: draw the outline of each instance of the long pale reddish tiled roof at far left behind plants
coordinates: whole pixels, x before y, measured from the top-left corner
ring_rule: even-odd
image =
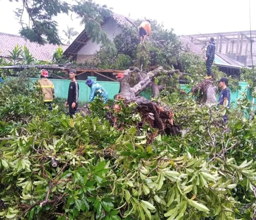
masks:
[[[17,44],[19,46],[26,45],[35,59],[44,61],[52,60],[53,53],[59,47],[58,45],[48,43],[40,45],[18,35],[0,33],[0,57],[8,58],[10,55],[9,51],[12,51]],[[61,45],[61,47],[65,50],[68,46]]]

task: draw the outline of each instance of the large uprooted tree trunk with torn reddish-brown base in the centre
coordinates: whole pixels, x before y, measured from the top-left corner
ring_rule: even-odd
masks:
[[[136,102],[137,110],[142,115],[142,121],[148,122],[153,128],[157,128],[160,133],[177,134],[180,132],[180,126],[176,126],[173,121],[174,112],[168,106],[161,106],[161,103],[152,102],[139,94],[148,86],[151,86],[153,96],[156,97],[163,88],[162,85],[156,85],[153,79],[160,73],[166,73],[172,77],[174,73],[183,76],[179,70],[164,70],[159,67],[149,73],[141,71],[139,68],[131,67],[124,72],[124,77],[120,81],[120,92],[115,95],[115,99],[124,99],[125,104]],[[118,107],[116,107],[118,108]]]

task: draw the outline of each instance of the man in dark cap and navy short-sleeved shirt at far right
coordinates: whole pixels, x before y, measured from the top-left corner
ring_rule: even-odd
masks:
[[[230,107],[230,91],[227,88],[228,86],[228,78],[222,77],[218,80],[219,86],[221,88],[220,97],[219,97],[219,105],[223,105],[225,107]],[[224,123],[227,122],[227,115],[223,116]]]

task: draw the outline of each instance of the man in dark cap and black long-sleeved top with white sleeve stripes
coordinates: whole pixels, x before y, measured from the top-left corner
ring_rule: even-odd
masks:
[[[79,95],[79,85],[76,81],[76,70],[74,69],[69,70],[69,78],[71,79],[71,82],[69,83],[68,99],[65,105],[69,107],[68,114],[70,115],[71,118],[73,118],[73,115],[76,113],[76,109],[78,106],[78,95]]]

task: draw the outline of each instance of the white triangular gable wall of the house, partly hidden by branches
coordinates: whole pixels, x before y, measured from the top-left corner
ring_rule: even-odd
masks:
[[[122,32],[122,28],[119,28],[116,21],[111,18],[103,26],[102,30],[107,33],[108,38],[112,41],[116,35]],[[93,55],[97,50],[100,49],[100,44],[96,42],[92,43],[92,40],[89,40],[86,45],[84,45],[78,52],[78,55]]]

